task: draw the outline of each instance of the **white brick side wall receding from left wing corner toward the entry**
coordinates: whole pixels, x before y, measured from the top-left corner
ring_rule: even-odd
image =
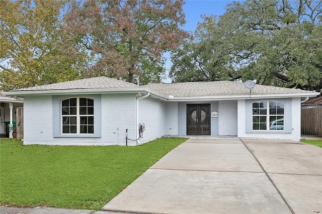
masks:
[[[139,141],[145,143],[166,135],[167,105],[165,102],[153,98],[139,99],[139,121],[145,124],[143,138]]]

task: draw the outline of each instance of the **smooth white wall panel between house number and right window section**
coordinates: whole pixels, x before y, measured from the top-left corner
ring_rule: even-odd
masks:
[[[237,101],[219,101],[218,109],[219,136],[237,136]]]

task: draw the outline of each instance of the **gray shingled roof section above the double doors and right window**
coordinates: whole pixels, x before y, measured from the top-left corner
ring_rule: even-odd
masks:
[[[144,85],[153,91],[174,97],[205,97],[205,96],[229,96],[248,95],[250,89],[241,82],[213,81],[213,82],[182,82],[182,83],[152,83]],[[287,93],[307,93],[309,91],[282,88],[267,85],[255,85],[252,95],[255,94],[287,94]]]

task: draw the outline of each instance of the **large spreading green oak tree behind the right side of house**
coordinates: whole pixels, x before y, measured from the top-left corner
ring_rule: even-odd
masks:
[[[204,17],[195,33],[197,43],[191,45],[193,49],[189,54],[197,54],[199,67],[214,65],[211,70],[214,73],[218,73],[215,67],[229,68],[219,70],[225,73],[219,72],[219,79],[241,77],[243,80],[257,79],[266,85],[320,89],[321,8],[322,1],[309,0],[233,2],[218,19]],[[211,47],[198,48],[207,43]],[[172,76],[178,79],[180,72],[175,66]]]

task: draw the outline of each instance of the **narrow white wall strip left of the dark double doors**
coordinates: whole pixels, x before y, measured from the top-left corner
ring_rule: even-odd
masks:
[[[179,135],[179,109],[178,102],[167,103],[166,135]]]

